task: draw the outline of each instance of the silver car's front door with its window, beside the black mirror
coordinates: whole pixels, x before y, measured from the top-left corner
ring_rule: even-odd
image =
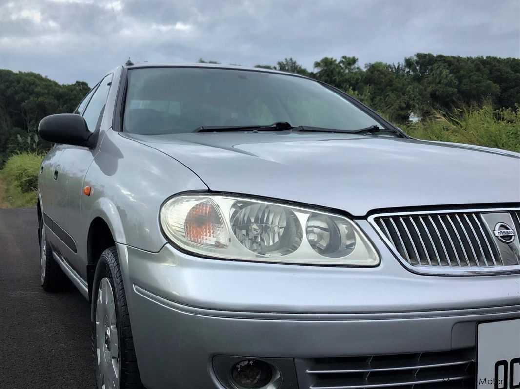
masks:
[[[99,131],[102,121],[108,92],[110,90],[112,74],[103,78],[86,108],[80,114],[84,117],[90,132]],[[61,156],[56,164],[54,179],[56,191],[55,233],[60,238],[60,251],[68,265],[83,280],[86,280],[84,253],[78,248],[80,237],[81,200],[83,194],[83,180],[94,159],[95,150],[83,146],[60,145]],[[82,244],[85,246],[85,244]]]

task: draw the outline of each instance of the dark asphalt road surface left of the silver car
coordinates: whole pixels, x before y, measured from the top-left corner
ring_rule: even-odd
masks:
[[[0,210],[0,388],[94,389],[88,302],[40,286],[35,209]]]

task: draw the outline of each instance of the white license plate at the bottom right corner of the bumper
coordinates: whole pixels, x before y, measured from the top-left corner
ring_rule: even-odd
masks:
[[[477,327],[477,389],[520,388],[520,319]]]

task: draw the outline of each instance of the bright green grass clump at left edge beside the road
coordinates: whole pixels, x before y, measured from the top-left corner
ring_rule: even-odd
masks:
[[[12,207],[28,207],[36,204],[38,170],[43,155],[22,153],[11,156],[0,172],[4,193],[2,202]]]

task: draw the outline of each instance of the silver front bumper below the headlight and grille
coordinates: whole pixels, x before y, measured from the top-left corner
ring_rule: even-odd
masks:
[[[149,389],[223,389],[217,355],[288,358],[297,383],[283,385],[307,389],[309,358],[474,356],[477,323],[520,317],[518,275],[422,276],[388,252],[375,269],[201,259],[170,245],[118,252]]]

